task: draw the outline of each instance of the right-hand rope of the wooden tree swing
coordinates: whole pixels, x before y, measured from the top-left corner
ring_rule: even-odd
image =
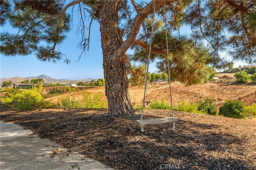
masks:
[[[166,38],[166,56],[168,64],[168,77],[169,77],[169,91],[170,91],[170,101],[171,101],[171,110],[172,110],[172,119],[173,119],[173,109],[172,109],[172,89],[171,89],[171,77],[170,77],[170,58],[168,50],[168,37],[167,37],[167,24],[166,24],[166,11],[165,11],[165,1],[164,1],[164,24],[165,24],[165,38]]]

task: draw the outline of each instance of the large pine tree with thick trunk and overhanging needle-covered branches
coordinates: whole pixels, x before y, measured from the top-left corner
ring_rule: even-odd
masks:
[[[78,12],[80,16],[81,22],[77,28],[81,41],[78,47],[82,49],[82,54],[89,49],[92,21],[100,23],[106,96],[109,113],[112,115],[134,112],[128,94],[129,59],[125,53],[132,44],[138,44],[148,50],[150,32],[145,29],[145,24],[154,8],[158,18],[162,18],[163,7],[166,8],[168,29],[171,32],[178,32],[184,23],[189,24],[196,46],[204,40],[210,45],[214,64],[222,63],[223,59],[218,54],[223,50],[229,50],[234,59],[256,62],[256,3],[251,0],[153,0],[148,3],[131,0],[130,4],[125,0],[0,2],[1,26],[9,21],[12,27],[18,29],[16,34],[1,34],[0,50],[6,56],[34,53],[42,61],[56,62],[64,59],[69,63],[68,57],[58,48],[72,27],[73,15],[68,14],[67,9],[74,7],[73,12]],[[89,32],[86,34],[85,23],[88,21],[88,14],[91,17]],[[142,34],[145,35],[144,40],[136,40],[136,37]],[[152,52],[162,53],[163,50],[153,49]],[[78,59],[80,57],[81,55]],[[204,75],[204,72],[198,74]]]

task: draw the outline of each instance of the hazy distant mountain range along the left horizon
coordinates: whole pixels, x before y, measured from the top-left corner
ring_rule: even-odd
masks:
[[[39,79],[42,78],[44,79],[45,83],[61,83],[61,82],[86,82],[86,81],[92,81],[92,78],[84,78],[84,79],[79,79],[79,80],[72,80],[72,79],[54,79],[48,75],[39,75],[37,77],[13,77],[13,78],[1,78],[0,79],[0,83],[2,83],[3,81],[12,81],[13,83],[20,83],[21,81],[24,80],[31,80],[31,79]]]

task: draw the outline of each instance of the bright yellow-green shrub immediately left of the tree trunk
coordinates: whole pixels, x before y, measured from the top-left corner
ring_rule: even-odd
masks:
[[[106,108],[106,102],[100,100],[100,95],[95,93],[93,98],[88,92],[84,92],[84,107],[85,108]]]

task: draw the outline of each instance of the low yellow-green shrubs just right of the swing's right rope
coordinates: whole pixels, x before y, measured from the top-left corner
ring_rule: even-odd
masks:
[[[173,106],[174,111],[182,111],[188,113],[199,113],[204,114],[202,110],[198,111],[198,103],[186,103],[186,102],[179,102]]]

